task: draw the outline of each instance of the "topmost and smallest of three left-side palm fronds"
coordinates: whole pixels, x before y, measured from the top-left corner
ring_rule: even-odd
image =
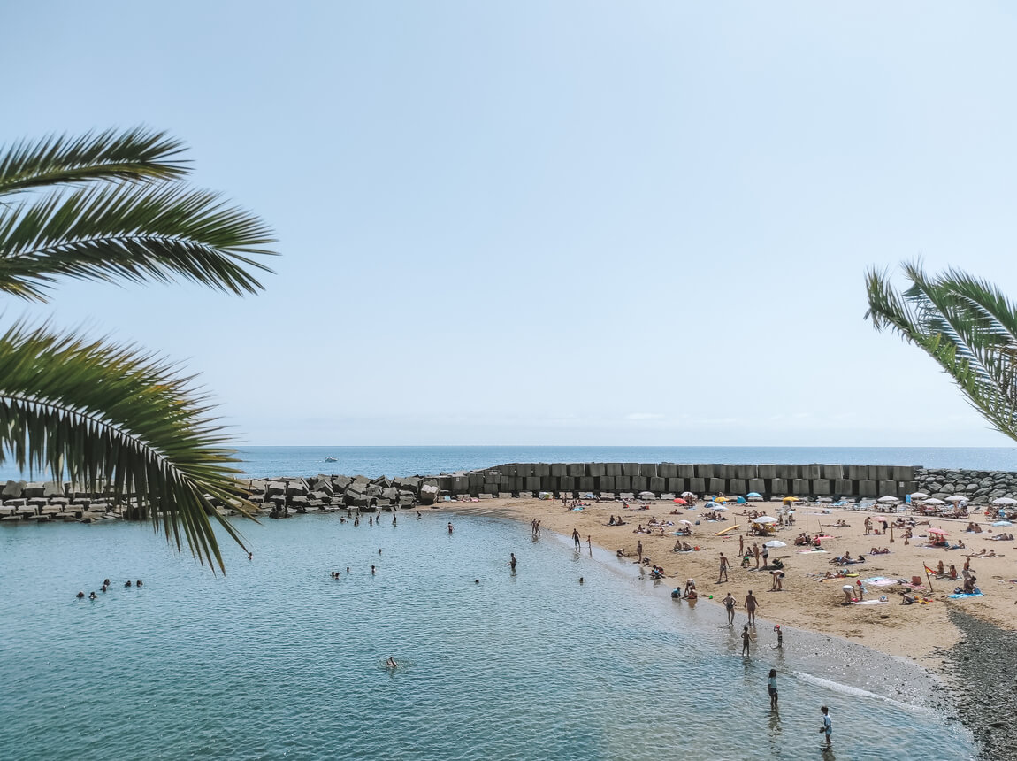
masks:
[[[187,174],[183,142],[144,127],[49,135],[0,150],[0,195],[96,180],[173,180]]]

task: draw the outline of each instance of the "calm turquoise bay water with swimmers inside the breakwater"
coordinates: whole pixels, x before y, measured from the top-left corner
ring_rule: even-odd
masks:
[[[226,578],[137,525],[0,527],[4,757],[973,754],[956,723],[803,665],[796,648],[812,655],[811,644],[792,637],[775,651],[762,626],[743,660],[716,606],[673,602],[630,563],[534,542],[528,527],[494,518],[453,516],[450,536],[448,518],[247,523],[253,561],[231,549]],[[100,598],[77,600],[79,589]],[[877,678],[880,663],[862,665]],[[817,750],[824,703],[832,754]]]

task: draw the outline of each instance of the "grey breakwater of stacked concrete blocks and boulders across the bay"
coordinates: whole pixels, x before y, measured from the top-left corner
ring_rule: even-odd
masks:
[[[854,500],[914,491],[946,499],[965,494],[974,505],[1017,494],[1017,472],[921,468],[891,465],[726,465],[676,463],[507,463],[483,470],[387,478],[319,474],[243,481],[264,515],[285,517],[308,511],[399,510],[431,505],[443,495],[555,495],[670,499],[697,494],[766,497],[831,496]],[[650,492],[646,494],[645,492]],[[97,521],[134,517],[108,493],[84,493],[70,484],[8,481],[0,491],[0,521]],[[224,513],[231,508],[214,503]]]

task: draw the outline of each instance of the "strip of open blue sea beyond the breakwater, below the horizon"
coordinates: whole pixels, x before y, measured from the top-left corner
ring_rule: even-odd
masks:
[[[242,447],[238,458],[238,469],[254,478],[435,475],[529,462],[826,463],[1017,471],[1017,449],[1005,447]],[[29,479],[9,463],[0,467],[0,479],[8,478]]]

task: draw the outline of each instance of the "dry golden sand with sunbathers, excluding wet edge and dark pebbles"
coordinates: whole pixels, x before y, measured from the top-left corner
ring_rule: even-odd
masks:
[[[753,590],[759,598],[759,614],[768,621],[777,622],[783,626],[796,627],[818,633],[844,637],[863,644],[875,650],[890,655],[913,659],[915,662],[932,670],[939,671],[943,665],[941,651],[952,647],[959,639],[959,631],[950,621],[948,614],[951,608],[962,610],[982,621],[995,624],[1004,629],[1017,627],[1017,584],[1010,579],[1017,577],[1012,570],[1013,560],[1017,558],[1017,542],[991,540],[990,536],[1000,531],[1013,531],[1007,528],[993,528],[993,519],[978,513],[964,520],[933,518],[930,524],[920,524],[912,529],[913,536],[908,544],[904,543],[903,532],[894,531],[894,541],[890,535],[865,535],[864,519],[872,516],[876,528],[880,519],[887,517],[892,523],[896,516],[875,511],[854,511],[820,506],[800,506],[796,512],[794,525],[778,528],[775,537],[786,542],[787,546],[771,549],[770,560],[779,559],[784,563],[785,578],[782,591],[769,591],[773,577],[768,571],[755,570],[755,561],[749,569],[741,568],[741,555],[738,553],[738,538],[744,539],[745,546],[752,547],[754,542],[762,543],[767,538],[749,534],[750,519],[743,511],[755,510],[760,513],[775,516],[780,509],[779,503],[752,503],[750,505],[731,505],[724,515],[725,521],[711,522],[703,520],[706,510],[700,506],[690,510],[672,503],[650,502],[648,509],[641,509],[639,503],[634,503],[630,509],[623,510],[620,502],[597,503],[584,502],[582,511],[562,507],[561,501],[541,500],[483,500],[480,502],[456,502],[443,507],[462,513],[497,515],[518,519],[524,523],[521,531],[528,535],[529,523],[533,519],[541,521],[541,529],[554,531],[571,536],[578,530],[583,544],[589,540],[593,544],[616,551],[621,549],[630,557],[634,566],[633,573],[638,573],[637,544],[643,543],[643,557],[650,559],[650,564],[664,569],[668,583],[682,586],[686,579],[695,579],[700,594],[700,602],[705,604],[720,604],[728,591],[738,602],[736,608],[736,625],[744,622],[745,612],[742,601],[749,590]],[[672,510],[677,512],[672,514]],[[625,525],[608,525],[610,516],[620,516]],[[909,514],[903,515],[905,519]],[[676,537],[673,532],[682,525],[678,522],[687,520],[693,525],[693,535]],[[916,518],[918,521],[925,519]],[[672,522],[665,525],[663,534],[654,530],[652,534],[636,533],[640,524],[647,527],[652,521]],[[837,525],[843,522],[845,525]],[[981,525],[982,533],[966,533],[969,522]],[[795,546],[794,538],[806,530],[812,535],[822,533],[831,538],[822,541],[824,552],[803,553],[799,550],[805,547]],[[738,528],[732,529],[737,526]],[[967,548],[944,549],[928,546],[925,533],[929,528],[939,528],[949,534],[951,544],[962,540]],[[726,531],[721,536],[718,532]],[[676,538],[681,538],[698,551],[674,552],[672,548]],[[888,554],[871,554],[876,547],[889,547]],[[982,597],[949,599],[947,595],[954,591],[962,581],[959,578],[966,555],[979,552],[996,551],[995,558],[972,558],[970,569],[977,578],[978,587],[984,593]],[[847,579],[821,581],[827,572],[837,573],[840,569],[830,561],[844,551],[852,557],[864,555],[865,563],[852,565],[843,570],[849,574],[858,574]],[[723,552],[730,561],[728,581],[717,583],[720,568],[720,553]],[[943,561],[947,569],[953,564],[958,572],[958,580],[933,577],[932,591],[925,581],[923,565],[936,569]],[[762,563],[761,563],[762,565]],[[649,566],[647,566],[649,570]],[[929,597],[928,603],[911,605],[901,604],[899,591],[905,589],[900,585],[876,586],[868,584],[866,600],[878,600],[882,595],[888,598],[885,604],[844,604],[844,593],[841,591],[845,583],[854,584],[859,579],[886,577],[890,579],[921,578],[922,587],[912,592]],[[710,599],[713,595],[713,599]]]

